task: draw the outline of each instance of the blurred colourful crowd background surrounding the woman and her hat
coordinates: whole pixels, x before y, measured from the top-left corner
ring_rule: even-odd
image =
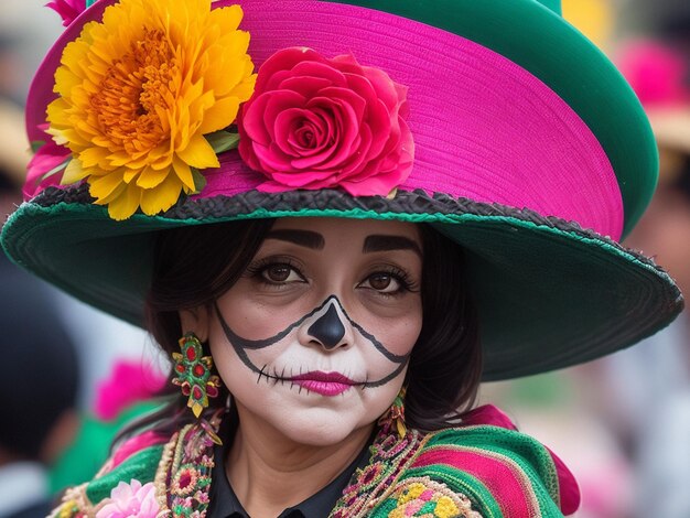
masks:
[[[63,29],[43,3],[0,2],[0,222],[21,203],[30,159],[26,90]],[[659,187],[626,245],[654,256],[690,292],[690,0],[563,0],[563,14],[618,64],[659,143]],[[15,406],[8,408],[18,409],[0,413],[0,518],[40,516],[21,512],[43,510],[52,494],[90,478],[121,423],[155,406],[145,400],[163,382],[165,360],[140,330],[22,276],[3,257],[0,301],[0,313],[13,319],[2,326],[2,349],[15,355],[18,366],[0,386],[3,400]],[[39,320],[51,325],[36,328]],[[17,332],[8,334],[8,327]],[[32,341],[35,347],[52,344],[60,359],[37,366],[36,349],[10,347]],[[29,377],[35,390],[25,389]],[[60,401],[51,397],[57,391]],[[687,311],[630,349],[487,384],[481,399],[503,408],[571,467],[583,493],[575,516],[690,518]],[[48,401],[55,407],[50,416],[25,411]],[[42,433],[26,449],[17,430],[30,428]]]

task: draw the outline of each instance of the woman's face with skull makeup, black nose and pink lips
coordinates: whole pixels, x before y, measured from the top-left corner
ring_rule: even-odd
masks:
[[[289,439],[336,444],[402,386],[422,325],[422,246],[401,222],[282,218],[208,315],[241,412]]]

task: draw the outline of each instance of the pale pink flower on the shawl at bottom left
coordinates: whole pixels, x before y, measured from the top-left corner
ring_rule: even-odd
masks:
[[[129,484],[120,482],[104,503],[96,518],[155,518],[160,510],[152,482],[144,485],[136,479]]]

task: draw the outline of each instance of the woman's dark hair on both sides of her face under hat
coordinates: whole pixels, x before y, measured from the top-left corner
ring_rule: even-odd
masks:
[[[149,331],[169,355],[179,349],[183,331],[177,311],[211,306],[231,288],[273,222],[231,222],[160,234],[145,315]],[[410,357],[405,404],[409,425],[432,431],[456,421],[474,403],[482,354],[464,251],[431,227],[421,228],[423,324]],[[191,419],[184,404],[185,398],[177,397],[172,404],[177,411],[168,427]],[[170,407],[163,411],[170,412]]]

